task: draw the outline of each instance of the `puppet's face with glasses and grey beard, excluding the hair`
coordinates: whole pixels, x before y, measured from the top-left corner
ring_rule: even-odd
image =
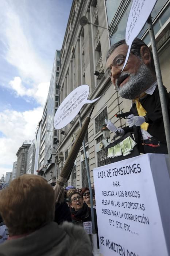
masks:
[[[106,64],[107,68],[111,67],[111,81],[120,96],[126,99],[135,99],[139,97],[154,80],[150,69],[143,63],[142,58],[134,54],[130,54],[124,71],[121,72],[127,51],[128,46],[126,44],[118,46],[114,52],[111,53]]]

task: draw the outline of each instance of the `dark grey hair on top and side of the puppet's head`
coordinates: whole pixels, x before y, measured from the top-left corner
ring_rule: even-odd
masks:
[[[106,54],[106,61],[107,59],[109,58],[109,56],[112,54],[112,52],[114,52],[114,50],[120,46],[120,45],[123,45],[123,44],[126,44],[125,42],[125,39],[121,40],[121,41],[118,41],[116,42],[114,45],[111,46],[111,48],[108,50],[107,54]],[[136,55],[137,57],[141,57],[140,56],[140,48],[141,46],[145,45],[147,48],[148,46],[139,38],[135,38],[134,41],[132,42],[132,46],[131,46],[131,52]],[[148,48],[149,49],[149,48]],[[150,51],[149,49],[149,52],[151,54],[151,68],[152,70],[155,72],[155,65],[154,65],[154,58],[153,58],[153,55],[152,55],[152,52]]]

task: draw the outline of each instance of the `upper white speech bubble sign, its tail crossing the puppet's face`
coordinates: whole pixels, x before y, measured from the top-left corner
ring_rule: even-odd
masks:
[[[154,8],[156,1],[157,0],[133,0],[132,2],[125,34],[125,41],[126,44],[129,45],[129,48],[122,71],[127,64],[132,42],[138,36],[143,26],[145,25],[149,15],[151,14],[152,9]]]

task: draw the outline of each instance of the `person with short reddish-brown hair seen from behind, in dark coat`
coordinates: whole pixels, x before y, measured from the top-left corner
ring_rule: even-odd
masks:
[[[54,190],[37,175],[24,174],[0,193],[0,214],[8,240],[0,256],[92,256],[88,234],[80,226],[53,222]]]

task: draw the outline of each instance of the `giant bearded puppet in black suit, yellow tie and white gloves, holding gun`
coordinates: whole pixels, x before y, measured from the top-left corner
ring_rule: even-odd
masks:
[[[168,154],[152,53],[142,40],[134,39],[128,62],[121,72],[127,51],[125,40],[111,46],[106,55],[105,76],[111,78],[122,98],[132,100],[132,114],[127,117],[127,127],[117,129],[106,120],[107,128],[121,135],[134,132],[140,153]],[[170,98],[165,87],[164,91],[170,118]]]

